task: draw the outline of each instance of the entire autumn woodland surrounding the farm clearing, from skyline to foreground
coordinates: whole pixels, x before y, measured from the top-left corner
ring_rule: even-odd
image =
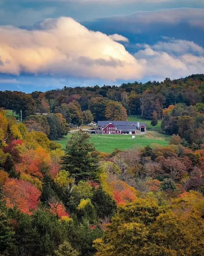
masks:
[[[0,255],[204,256],[204,75],[4,91],[0,107]],[[169,145],[107,154],[82,130],[65,150],[53,141],[130,114],[162,119]]]

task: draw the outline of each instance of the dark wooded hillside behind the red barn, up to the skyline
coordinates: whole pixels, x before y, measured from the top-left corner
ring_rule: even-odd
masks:
[[[128,83],[121,86],[67,87],[47,92],[0,91],[0,108],[20,115],[28,131],[45,133],[50,140],[62,138],[69,124],[127,120],[141,115],[152,127],[162,121],[166,134],[179,134],[182,144],[201,148],[204,121],[204,75],[163,82]],[[36,115],[38,113],[38,115]],[[44,114],[44,115],[40,115]]]

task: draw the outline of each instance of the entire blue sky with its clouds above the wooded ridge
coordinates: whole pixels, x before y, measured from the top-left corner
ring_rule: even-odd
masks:
[[[0,90],[162,81],[204,70],[204,0],[0,0]]]

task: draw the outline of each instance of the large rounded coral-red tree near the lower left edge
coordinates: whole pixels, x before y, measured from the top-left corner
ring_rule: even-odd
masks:
[[[22,212],[32,214],[40,201],[40,190],[30,182],[8,179],[2,186],[7,207],[17,206]]]

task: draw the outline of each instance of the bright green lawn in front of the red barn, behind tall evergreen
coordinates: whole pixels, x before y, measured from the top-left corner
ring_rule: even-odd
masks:
[[[56,142],[65,148],[67,140],[70,138],[71,134],[64,136],[61,140],[56,140]],[[90,134],[90,142],[94,144],[96,149],[101,152],[111,153],[115,148],[121,150],[129,148],[143,148],[147,145],[152,146],[153,144],[159,144],[161,146],[166,146],[169,143],[169,136],[164,136],[157,132],[148,132],[145,135],[136,135],[135,139],[132,139],[131,135],[103,135],[103,134]]]

